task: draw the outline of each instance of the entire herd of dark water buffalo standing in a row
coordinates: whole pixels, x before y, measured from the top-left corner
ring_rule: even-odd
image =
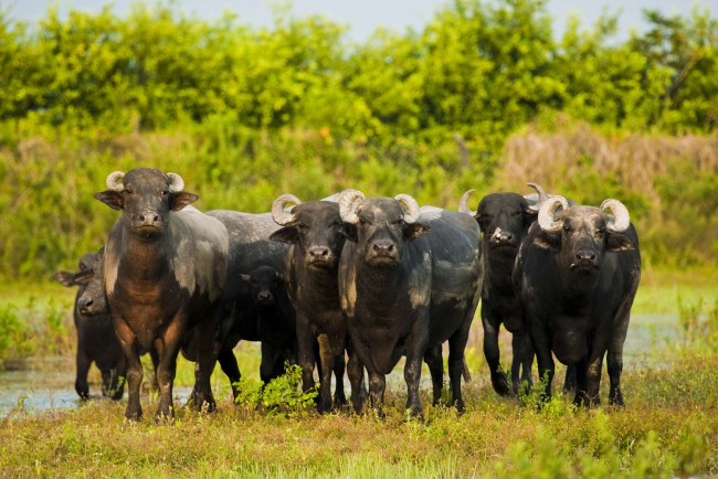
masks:
[[[115,171],[95,194],[120,212],[106,244],[77,272],[53,276],[78,287],[75,390],[89,396],[94,362],[104,395],[122,398],[126,381],[125,417],[138,421],[140,354],[149,353],[155,417],[171,419],[181,352],[196,363],[189,404],[211,412],[215,363],[236,398],[233,349],[258,341],[262,381],[298,364],[304,391],[318,379],[320,413],[370,407],[382,417],[386,376],[403,356],[406,413],[421,418],[422,361],[437,404],[447,351],[450,401],[463,412],[464,350],[481,300],[496,393],[530,386],[536,358],[547,401],[556,358],[574,404],[590,407],[600,403],[605,356],[609,403],[623,405],[623,343],[641,278],[629,211],[614,199],[580,205],[528,184],[537,193],[490,193],[476,211],[473,190],[458,211],[345,190],[307,202],[282,194],[270,212],[250,214],[197,210],[176,173]],[[510,380],[499,363],[500,324],[513,338]]]

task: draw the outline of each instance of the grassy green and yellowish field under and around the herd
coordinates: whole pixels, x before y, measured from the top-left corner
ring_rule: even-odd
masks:
[[[193,413],[182,407],[182,397],[176,402],[173,426],[151,421],[156,407],[151,394],[142,396],[146,416],[139,424],[123,419],[124,401],[91,401],[82,407],[41,413],[19,404],[0,418],[0,476],[718,475],[718,286],[710,277],[710,272],[644,275],[634,313],[674,315],[682,327],[667,349],[643,351],[645,361],[626,366],[624,408],[606,405],[605,373],[604,405],[592,411],[576,411],[570,397],[560,393],[541,411],[531,394],[521,401],[498,397],[487,379],[476,323],[467,351],[474,379],[465,385],[467,412],[462,416],[451,408],[432,407],[424,385],[425,423],[408,421],[400,370],[389,381],[386,421],[346,412],[319,416],[298,406],[277,414],[249,402],[233,405],[226,379],[215,371],[212,384],[219,412]],[[60,316],[54,320],[60,326],[44,330],[46,343],[30,348],[32,355],[72,356],[72,320],[60,312],[70,310],[72,299],[62,287],[0,287],[6,317],[11,304],[19,305],[18,315],[28,313],[23,320],[30,323],[41,321],[43,313]],[[507,341],[503,354],[507,364]],[[246,376],[256,379],[255,345],[241,345],[237,355]],[[557,377],[562,376],[559,366]],[[191,363],[181,361],[177,384],[191,382]]]

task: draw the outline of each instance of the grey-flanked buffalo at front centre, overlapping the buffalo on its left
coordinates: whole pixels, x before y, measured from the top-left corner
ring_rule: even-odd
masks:
[[[355,190],[339,205],[341,220],[353,226],[339,260],[339,296],[369,372],[372,406],[383,414],[384,376],[405,354],[406,408],[421,415],[422,358],[435,380],[441,344],[448,340],[452,404],[463,411],[464,349],[484,277],[476,221],[433,206],[420,210],[406,194],[366,199]]]

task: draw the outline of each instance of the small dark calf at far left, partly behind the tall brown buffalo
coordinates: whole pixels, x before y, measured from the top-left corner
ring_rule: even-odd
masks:
[[[81,311],[83,301],[92,298],[92,295],[85,295],[85,290],[94,278],[99,278],[102,257],[102,249],[99,253],[87,253],[80,258],[77,272],[57,272],[53,278],[63,286],[77,286],[73,307],[77,331],[75,391],[83,400],[89,397],[87,373],[94,362],[102,372],[103,395],[119,401],[125,391],[125,383],[119,382],[119,377],[126,376],[127,368],[109,315],[102,310],[98,316],[89,317],[94,315],[86,315],[86,310]],[[99,281],[95,279],[95,283]]]

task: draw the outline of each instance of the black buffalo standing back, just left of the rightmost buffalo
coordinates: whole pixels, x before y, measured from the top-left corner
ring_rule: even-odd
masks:
[[[482,326],[484,355],[494,391],[506,396],[518,393],[522,381],[531,384],[531,349],[528,331],[524,328],[521,306],[514,294],[511,272],[514,260],[529,226],[538,215],[525,196],[518,193],[490,193],[482,198],[476,211],[466,201],[474,190],[462,196],[458,210],[476,219],[482,230],[484,246],[484,288],[482,290]],[[500,366],[498,348],[499,327],[511,333],[511,386]]]

